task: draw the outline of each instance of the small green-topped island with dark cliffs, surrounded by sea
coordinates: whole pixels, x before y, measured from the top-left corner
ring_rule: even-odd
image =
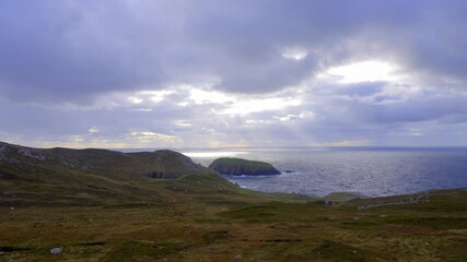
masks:
[[[269,163],[232,157],[218,158],[209,165],[209,168],[221,175],[230,176],[269,176],[281,174]]]

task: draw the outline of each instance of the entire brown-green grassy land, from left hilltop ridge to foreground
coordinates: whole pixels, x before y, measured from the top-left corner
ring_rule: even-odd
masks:
[[[24,148],[0,145],[0,261],[467,261],[467,189],[329,205],[175,152]]]

